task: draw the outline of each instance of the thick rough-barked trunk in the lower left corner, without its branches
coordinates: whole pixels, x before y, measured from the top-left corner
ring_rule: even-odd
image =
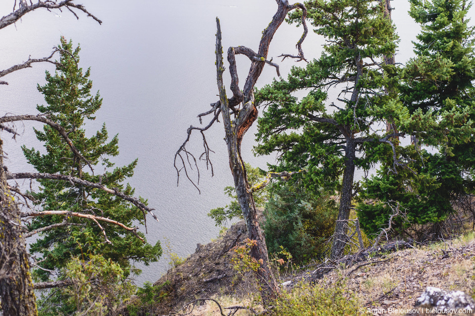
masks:
[[[36,316],[20,210],[8,190],[0,139],[0,310],[3,316]]]

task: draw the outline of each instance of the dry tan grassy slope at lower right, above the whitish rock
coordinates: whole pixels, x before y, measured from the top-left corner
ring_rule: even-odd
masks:
[[[473,295],[474,239],[472,232],[450,241],[387,254],[391,260],[362,267],[348,276],[347,289],[355,293],[365,306],[386,310],[412,308],[427,286],[461,290]],[[443,258],[442,249],[449,254],[448,258]],[[332,284],[338,273],[345,276],[350,270],[333,271],[320,284]]]

